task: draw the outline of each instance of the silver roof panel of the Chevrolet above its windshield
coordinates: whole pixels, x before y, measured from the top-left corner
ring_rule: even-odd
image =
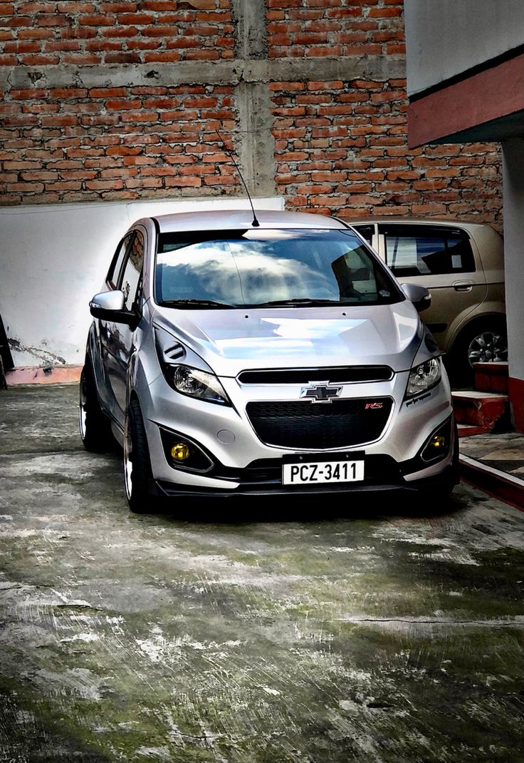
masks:
[[[305,212],[281,210],[255,210],[260,227],[264,228],[335,228],[347,229],[347,225],[334,217]],[[175,212],[155,216],[161,233],[182,230],[234,230],[250,228],[253,223],[251,209],[219,209],[216,211]]]

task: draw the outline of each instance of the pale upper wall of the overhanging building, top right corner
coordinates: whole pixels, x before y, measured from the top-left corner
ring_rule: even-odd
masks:
[[[407,95],[524,44],[522,0],[404,0]]]

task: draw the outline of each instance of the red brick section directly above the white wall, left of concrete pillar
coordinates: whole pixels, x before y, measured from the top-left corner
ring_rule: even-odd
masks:
[[[231,86],[11,90],[2,109],[4,203],[238,192],[215,132]]]

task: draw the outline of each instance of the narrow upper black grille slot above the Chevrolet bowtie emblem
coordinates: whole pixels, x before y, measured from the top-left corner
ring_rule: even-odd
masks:
[[[388,365],[342,365],[330,369],[268,369],[242,371],[241,384],[310,384],[312,381],[331,381],[349,384],[359,381],[388,381],[393,376]]]

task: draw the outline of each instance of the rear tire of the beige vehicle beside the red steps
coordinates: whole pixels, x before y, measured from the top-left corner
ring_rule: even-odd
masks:
[[[452,385],[471,386],[474,362],[507,360],[506,322],[493,317],[465,327],[458,335],[446,363]]]

